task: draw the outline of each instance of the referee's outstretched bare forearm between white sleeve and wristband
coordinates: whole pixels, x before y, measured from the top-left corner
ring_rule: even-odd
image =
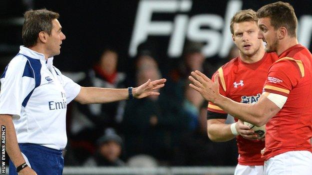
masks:
[[[134,90],[134,88],[133,88]],[[81,104],[108,103],[128,98],[128,89],[81,87],[76,101]]]

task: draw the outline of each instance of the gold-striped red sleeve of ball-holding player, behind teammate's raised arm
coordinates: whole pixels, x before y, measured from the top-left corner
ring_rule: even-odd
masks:
[[[226,84],[223,76],[223,69],[220,67],[213,75],[211,80],[214,82],[215,74],[219,74],[219,93],[223,96],[226,96]],[[226,119],[227,114],[215,104],[209,102],[207,107],[207,119]]]

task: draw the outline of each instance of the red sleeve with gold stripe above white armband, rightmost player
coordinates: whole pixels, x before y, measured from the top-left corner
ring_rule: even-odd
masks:
[[[263,92],[288,97],[289,92],[304,76],[302,61],[285,57],[277,60],[269,69]]]

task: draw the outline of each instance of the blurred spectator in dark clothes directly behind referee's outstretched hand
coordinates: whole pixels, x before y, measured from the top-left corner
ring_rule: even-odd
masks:
[[[139,53],[136,60],[137,84],[161,76],[157,62],[146,53]],[[127,102],[122,125],[126,158],[146,154],[164,162],[171,160],[173,146],[188,125],[181,106],[171,100],[164,94]]]

